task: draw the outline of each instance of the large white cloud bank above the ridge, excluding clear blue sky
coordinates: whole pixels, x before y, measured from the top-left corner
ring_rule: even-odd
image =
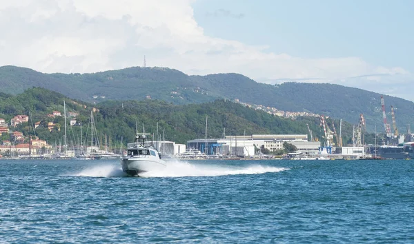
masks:
[[[195,21],[191,3],[0,0],[0,65],[98,72],[142,65],[145,54],[150,66],[188,74],[238,72],[267,83],[297,79],[389,94],[396,81],[413,81],[402,68],[376,67],[359,57],[304,59],[267,52],[266,46],[208,37]],[[393,95],[412,99],[406,88]]]

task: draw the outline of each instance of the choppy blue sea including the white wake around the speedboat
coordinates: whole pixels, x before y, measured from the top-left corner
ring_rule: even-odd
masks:
[[[0,160],[1,243],[414,243],[414,161]]]

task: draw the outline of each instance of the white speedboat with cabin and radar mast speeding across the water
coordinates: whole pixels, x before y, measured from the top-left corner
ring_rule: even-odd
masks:
[[[154,145],[146,141],[150,134],[137,133],[135,142],[128,143],[126,156],[121,158],[122,170],[130,176],[139,176],[144,172],[164,170],[166,162],[161,159]]]

